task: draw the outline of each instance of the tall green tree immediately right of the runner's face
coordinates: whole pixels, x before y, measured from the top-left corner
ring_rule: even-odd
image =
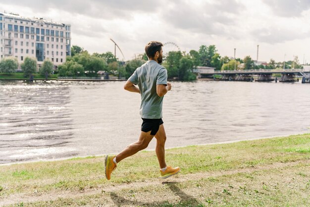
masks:
[[[180,59],[182,58],[181,51],[170,51],[166,56],[166,60],[162,65],[167,69],[168,78],[178,77],[179,76],[179,65]]]

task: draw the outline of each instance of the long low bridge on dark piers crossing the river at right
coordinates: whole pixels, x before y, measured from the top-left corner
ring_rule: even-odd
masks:
[[[214,75],[221,75],[220,80],[224,81],[299,81],[296,76],[301,76],[302,83],[310,82],[310,71],[304,69],[256,69],[256,70],[221,70],[207,71],[196,69],[195,72],[200,78],[213,78]],[[273,77],[272,74],[281,74],[281,77]]]

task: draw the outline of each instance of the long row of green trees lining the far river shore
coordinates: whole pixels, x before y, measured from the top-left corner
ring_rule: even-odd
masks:
[[[109,76],[127,79],[137,67],[140,67],[148,60],[145,53],[135,56],[134,59],[123,61],[114,56],[112,52],[90,54],[79,46],[72,46],[71,56],[66,57],[66,62],[59,65],[57,69],[53,68],[53,63],[46,59],[39,69],[42,77],[51,76],[51,73],[58,77],[99,77],[98,71],[104,71]],[[172,51],[164,53],[162,65],[168,71],[168,79],[182,81],[196,80],[193,69],[198,66],[214,67],[215,70],[248,70],[248,69],[276,69],[283,68],[283,62],[275,62],[270,59],[266,64],[255,64],[251,56],[245,56],[243,59],[228,56],[221,56],[214,45],[200,46],[198,51],[190,52]],[[286,61],[285,68],[302,68],[298,56],[294,60]],[[4,58],[0,61],[0,73],[15,73],[18,67],[18,61],[14,57]],[[37,60],[32,57],[26,57],[21,64],[21,70],[24,77],[29,77],[37,71]]]

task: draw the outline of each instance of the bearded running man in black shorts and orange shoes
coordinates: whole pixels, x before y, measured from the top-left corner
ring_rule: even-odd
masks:
[[[145,47],[149,61],[138,67],[127,80],[124,89],[141,94],[140,115],[143,120],[139,140],[128,145],[118,155],[106,155],[105,177],[109,180],[117,163],[148,147],[156,138],[156,155],[160,166],[160,178],[167,178],[180,172],[180,167],[167,166],[165,162],[166,133],[162,121],[163,96],[171,90],[167,82],[167,70],[158,63],[162,62],[162,43],[151,41]],[[135,86],[135,85],[138,85]]]

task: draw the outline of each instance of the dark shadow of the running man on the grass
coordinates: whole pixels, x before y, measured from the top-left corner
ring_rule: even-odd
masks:
[[[194,197],[187,195],[179,187],[176,185],[178,182],[162,182],[163,185],[169,187],[169,189],[178,197],[180,197],[180,201],[176,204],[171,204],[168,201],[161,202],[139,202],[137,200],[128,200],[123,197],[118,196],[116,193],[110,193],[111,200],[116,206],[124,206],[124,205],[133,205],[133,206],[154,206],[154,207],[203,207],[203,204],[200,204]]]

